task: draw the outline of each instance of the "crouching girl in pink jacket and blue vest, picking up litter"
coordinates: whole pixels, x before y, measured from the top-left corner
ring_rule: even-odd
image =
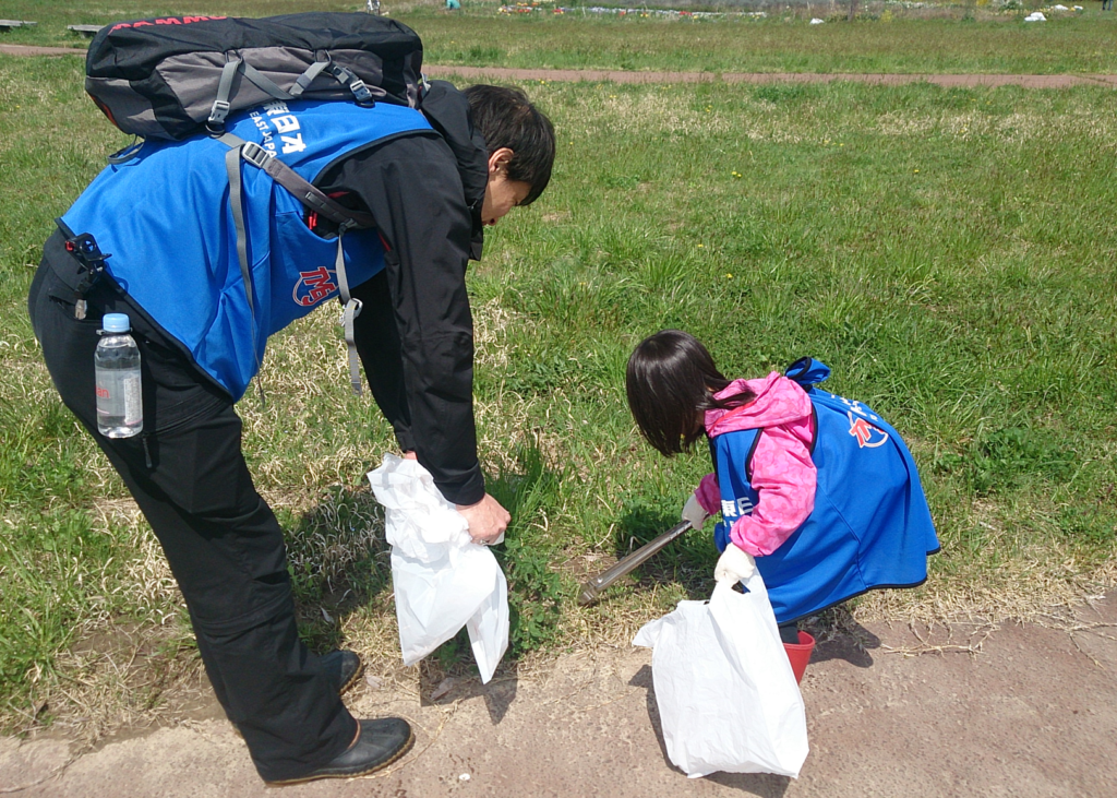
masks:
[[[663,330],[629,359],[640,433],[667,457],[705,436],[714,473],[682,517],[718,512],[714,577],[758,569],[784,643],[798,621],[867,590],[917,587],[938,540],[911,455],[870,408],[814,388],[830,369],[803,359],[728,380],[693,335]]]

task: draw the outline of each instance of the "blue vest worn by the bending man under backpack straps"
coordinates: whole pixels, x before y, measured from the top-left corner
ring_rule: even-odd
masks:
[[[359,149],[431,127],[420,112],[389,103],[303,101],[267,103],[232,117],[227,130],[314,182]],[[241,163],[254,330],[226,152],[208,136],[145,142],[130,160],[102,171],[63,220],[75,232],[93,234],[112,254],[106,267],[113,279],[236,400],[262,362],[268,336],[337,294],[337,240],[312,232],[302,202]],[[350,231],[343,250],[351,287],[384,267],[375,230]]]

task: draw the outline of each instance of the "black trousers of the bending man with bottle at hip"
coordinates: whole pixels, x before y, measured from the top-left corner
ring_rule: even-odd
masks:
[[[240,418],[111,279],[75,319],[75,266],[56,234],[28,300],[50,377],[159,538],[213,692],[260,776],[303,776],[349,747],[356,721],[298,639],[283,531],[252,486]],[[144,431],[133,438],[97,433],[93,352],[105,313],[127,313],[140,346]]]

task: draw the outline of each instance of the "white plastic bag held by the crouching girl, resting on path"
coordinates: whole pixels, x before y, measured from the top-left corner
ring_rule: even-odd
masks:
[[[747,593],[718,582],[709,601],[679,601],[632,644],[653,648],[656,703],[671,762],[690,778],[716,771],[798,777],[806,759],[803,696],[760,573]]]

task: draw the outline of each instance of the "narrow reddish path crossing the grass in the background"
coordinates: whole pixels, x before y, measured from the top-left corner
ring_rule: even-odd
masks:
[[[9,56],[84,56],[77,47],[32,47],[0,45]],[[699,72],[621,72],[615,69],[505,69],[502,67],[432,66],[427,75],[459,75],[468,80],[558,80],[586,83],[832,83],[847,80],[898,86],[906,83],[932,83],[937,86],[1022,86],[1024,88],[1066,88],[1068,86],[1108,85],[1117,87],[1117,75],[861,75],[852,73],[699,73]]]

